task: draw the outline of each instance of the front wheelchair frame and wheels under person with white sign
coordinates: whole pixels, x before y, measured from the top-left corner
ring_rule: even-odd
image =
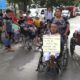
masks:
[[[38,72],[48,72],[50,71],[50,67],[49,67],[49,63],[51,62],[51,58],[49,61],[44,62],[43,59],[43,39],[42,39],[42,43],[41,43],[41,51],[40,51],[40,58],[39,58],[39,62],[38,62],[38,66],[36,71]],[[54,56],[52,56],[54,57]],[[63,51],[61,51],[59,57],[57,59],[52,58],[53,60],[53,68],[51,70],[53,70],[54,72],[56,72],[57,74],[59,73],[63,73],[64,70],[67,69],[67,65],[68,65],[68,60],[69,60],[69,51],[68,51],[68,45],[67,45],[67,41],[64,44],[64,49]]]

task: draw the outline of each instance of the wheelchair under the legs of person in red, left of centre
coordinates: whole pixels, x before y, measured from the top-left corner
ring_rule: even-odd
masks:
[[[20,26],[20,33],[22,37],[22,46],[23,48],[27,47],[29,51],[32,50],[32,45],[33,45],[33,39],[34,39],[34,34],[29,27],[32,27],[32,25],[28,24],[22,24]],[[27,29],[27,30],[26,30]]]

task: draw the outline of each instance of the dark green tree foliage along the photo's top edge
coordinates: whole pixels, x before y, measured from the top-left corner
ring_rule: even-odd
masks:
[[[32,2],[35,4],[39,4],[41,7],[45,5],[45,7],[52,7],[52,6],[60,6],[60,5],[75,5],[75,2],[78,2],[79,0],[7,0],[8,3],[17,3],[22,4],[24,8],[24,11],[26,11],[27,5],[31,5]]]

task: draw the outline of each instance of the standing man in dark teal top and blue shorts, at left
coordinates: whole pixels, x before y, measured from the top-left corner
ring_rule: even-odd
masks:
[[[6,46],[6,49],[9,51],[13,51],[11,49],[11,40],[13,38],[13,29],[12,29],[12,18],[11,18],[12,11],[7,9],[6,10],[6,16],[4,17],[4,26],[6,26],[5,33],[6,33],[6,39],[4,41],[4,44]]]

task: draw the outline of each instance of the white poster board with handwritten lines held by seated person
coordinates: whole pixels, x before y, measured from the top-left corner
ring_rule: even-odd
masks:
[[[43,35],[43,52],[50,52],[52,55],[60,53],[61,36],[56,35]]]

